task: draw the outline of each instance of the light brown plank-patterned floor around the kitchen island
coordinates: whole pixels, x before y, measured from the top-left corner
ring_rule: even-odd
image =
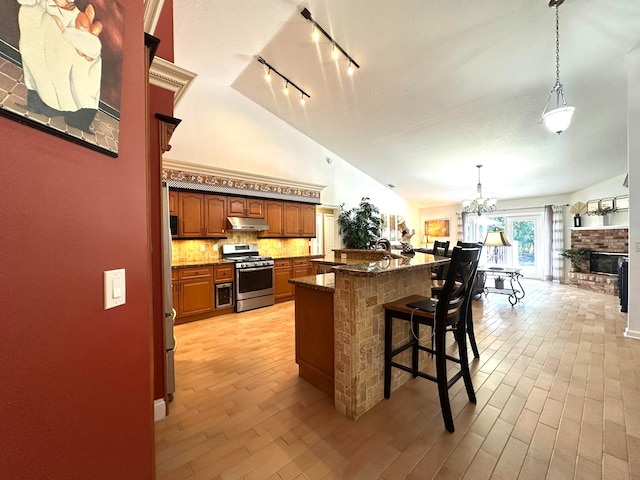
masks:
[[[617,298],[525,280],[473,302],[478,397],[413,379],[353,422],[297,376],[293,302],[176,327],[158,479],[640,480],[640,342]]]

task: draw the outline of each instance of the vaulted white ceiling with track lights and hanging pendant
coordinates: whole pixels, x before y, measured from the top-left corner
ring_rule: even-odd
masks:
[[[311,40],[313,18],[360,65]],[[485,193],[576,191],[627,171],[626,54],[640,1],[566,0],[560,76],[576,107],[555,135],[538,119],[555,84],[547,0],[174,0],[175,62],[228,85],[417,206]],[[264,80],[262,56],[311,96]],[[207,122],[202,117],[191,122]],[[179,142],[179,137],[173,143]],[[180,145],[193,158],[206,142]]]

